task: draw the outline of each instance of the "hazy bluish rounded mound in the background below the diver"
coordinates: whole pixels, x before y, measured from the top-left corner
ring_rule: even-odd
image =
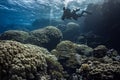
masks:
[[[80,34],[80,25],[74,22],[69,22],[66,25],[66,30],[63,32],[63,39],[75,41],[76,37]]]

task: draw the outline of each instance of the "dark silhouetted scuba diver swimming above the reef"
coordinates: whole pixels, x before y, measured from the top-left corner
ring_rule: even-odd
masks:
[[[84,16],[84,13],[92,14],[91,12],[88,12],[88,11],[82,11],[80,14],[79,13],[77,14],[78,11],[80,11],[80,9],[74,9],[71,11],[69,8],[63,7],[62,20],[65,20],[65,19],[78,20],[79,17]]]

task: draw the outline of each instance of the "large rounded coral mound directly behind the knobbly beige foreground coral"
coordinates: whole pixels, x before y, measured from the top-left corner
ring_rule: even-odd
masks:
[[[63,37],[61,31],[54,26],[37,29],[30,34],[31,36],[26,42],[45,47],[48,50],[55,48]]]

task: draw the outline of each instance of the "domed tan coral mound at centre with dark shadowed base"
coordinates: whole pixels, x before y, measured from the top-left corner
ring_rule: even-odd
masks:
[[[69,74],[75,72],[79,62],[75,56],[76,51],[74,43],[71,41],[62,41],[51,53],[58,58],[58,61]]]

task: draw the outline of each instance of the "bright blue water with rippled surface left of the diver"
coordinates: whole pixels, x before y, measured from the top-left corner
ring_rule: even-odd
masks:
[[[84,10],[89,3],[102,1],[104,0],[1,0],[0,26],[3,30],[0,32],[8,29],[25,28],[25,26],[34,29],[32,24],[35,20],[39,20],[40,27],[55,22],[59,23],[61,22],[63,6],[70,8],[80,7]],[[19,28],[19,26],[21,27]]]

